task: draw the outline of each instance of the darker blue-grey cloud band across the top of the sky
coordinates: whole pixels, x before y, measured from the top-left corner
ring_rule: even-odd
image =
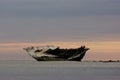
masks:
[[[120,15],[119,0],[5,0],[0,7],[0,15],[15,17]]]

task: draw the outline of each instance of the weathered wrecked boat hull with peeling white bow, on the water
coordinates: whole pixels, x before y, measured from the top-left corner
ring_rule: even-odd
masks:
[[[24,48],[37,61],[81,61],[89,48],[60,49],[56,46]]]

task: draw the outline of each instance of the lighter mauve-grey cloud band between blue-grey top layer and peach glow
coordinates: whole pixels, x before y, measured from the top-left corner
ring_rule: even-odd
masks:
[[[6,35],[0,42],[120,40],[120,16],[68,18],[7,18],[0,20]]]

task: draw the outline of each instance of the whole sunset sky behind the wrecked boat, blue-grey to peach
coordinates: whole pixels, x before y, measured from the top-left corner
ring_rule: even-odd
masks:
[[[0,0],[0,59],[22,48],[86,45],[85,60],[120,59],[120,0]]]

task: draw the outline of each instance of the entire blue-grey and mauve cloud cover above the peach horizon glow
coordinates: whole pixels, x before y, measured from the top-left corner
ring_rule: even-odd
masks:
[[[0,0],[0,42],[120,40],[119,0]]]

